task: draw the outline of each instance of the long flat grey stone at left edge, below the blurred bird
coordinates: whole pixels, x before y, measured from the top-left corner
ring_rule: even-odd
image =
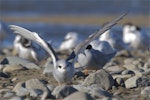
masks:
[[[9,56],[4,58],[1,61],[1,64],[6,65],[22,65],[28,69],[40,69],[39,66],[37,66],[36,64],[34,64],[31,61],[28,61],[26,59],[20,58],[20,57],[16,57],[16,56]]]

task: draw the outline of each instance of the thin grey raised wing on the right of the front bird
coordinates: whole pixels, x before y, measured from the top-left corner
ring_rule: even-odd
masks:
[[[71,53],[71,55],[68,57],[67,60],[71,60],[74,59],[76,57],[76,55],[78,55],[79,53],[81,53],[83,50],[85,50],[85,48],[89,45],[90,42],[92,42],[95,38],[99,37],[100,35],[102,35],[105,31],[109,30],[110,28],[112,28],[114,25],[117,24],[118,21],[120,21],[125,15],[122,14],[121,16],[117,17],[116,19],[112,20],[111,22],[107,23],[106,25],[104,25],[101,29],[99,29],[98,31],[96,31],[95,33],[91,34],[85,41],[81,42],[79,45],[77,45],[77,47],[74,49],[74,51]],[[75,60],[75,59],[74,59]]]

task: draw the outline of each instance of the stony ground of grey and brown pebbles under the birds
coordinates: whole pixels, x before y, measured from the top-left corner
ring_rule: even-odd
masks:
[[[65,58],[63,53],[59,53]],[[11,56],[10,50],[0,53],[1,100],[149,100],[150,52],[117,53],[104,69],[89,75],[78,72],[71,85],[58,86],[46,60],[35,64]],[[44,74],[43,74],[44,73]]]

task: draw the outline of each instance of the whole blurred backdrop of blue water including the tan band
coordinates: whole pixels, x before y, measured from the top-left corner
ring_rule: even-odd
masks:
[[[122,24],[133,22],[150,33],[150,0],[0,0],[0,48],[12,45],[15,35],[10,24],[35,31],[58,47],[67,32],[85,39],[127,11],[114,32],[121,33]]]

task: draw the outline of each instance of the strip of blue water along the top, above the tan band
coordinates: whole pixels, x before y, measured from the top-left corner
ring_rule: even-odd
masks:
[[[150,0],[0,0],[1,15],[149,15]]]

